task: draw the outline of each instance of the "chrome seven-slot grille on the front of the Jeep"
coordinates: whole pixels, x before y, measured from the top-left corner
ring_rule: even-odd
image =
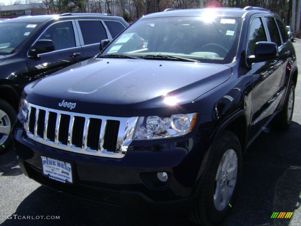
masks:
[[[112,158],[124,156],[116,152],[116,147],[125,141],[129,122],[135,125],[138,119],[74,113],[30,103],[28,106],[29,119],[24,128],[31,139],[67,151]]]

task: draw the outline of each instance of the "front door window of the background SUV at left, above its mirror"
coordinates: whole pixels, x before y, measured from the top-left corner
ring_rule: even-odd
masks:
[[[39,39],[51,39],[55,50],[75,47],[74,31],[71,21],[59,22],[49,26]]]

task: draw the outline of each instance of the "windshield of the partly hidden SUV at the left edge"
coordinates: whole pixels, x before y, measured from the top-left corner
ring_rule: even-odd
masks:
[[[37,23],[0,23],[0,54],[12,53],[38,27]]]

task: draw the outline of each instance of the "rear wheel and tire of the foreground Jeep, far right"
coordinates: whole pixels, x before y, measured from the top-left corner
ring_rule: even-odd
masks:
[[[295,85],[291,82],[282,110],[271,121],[271,125],[274,129],[285,130],[290,126],[293,118],[294,104]]]

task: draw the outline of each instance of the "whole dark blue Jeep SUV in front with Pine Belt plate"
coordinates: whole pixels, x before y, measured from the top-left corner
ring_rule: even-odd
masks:
[[[291,124],[298,71],[281,18],[169,10],[108,42],[25,87],[13,128],[22,171],[85,199],[221,223],[243,152],[269,123]]]

